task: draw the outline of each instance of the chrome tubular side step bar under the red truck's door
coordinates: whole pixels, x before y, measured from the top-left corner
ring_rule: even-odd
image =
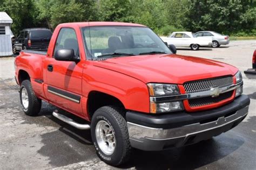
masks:
[[[79,130],[89,130],[91,127],[90,125],[87,125],[87,124],[78,124],[76,121],[66,117],[65,115],[63,114],[59,114],[57,112],[52,112],[52,115],[56,118],[58,118],[59,120],[62,120],[64,121],[65,123],[73,126],[73,127],[76,127],[78,128]]]

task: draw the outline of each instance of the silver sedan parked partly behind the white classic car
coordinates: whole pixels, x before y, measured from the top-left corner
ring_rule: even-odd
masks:
[[[199,31],[194,33],[194,37],[209,38],[212,37],[212,47],[219,47],[220,45],[227,45],[230,43],[230,37],[221,35],[214,31]]]

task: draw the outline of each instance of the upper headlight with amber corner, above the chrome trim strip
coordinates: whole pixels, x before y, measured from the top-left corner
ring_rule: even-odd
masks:
[[[149,83],[150,96],[166,96],[179,94],[179,88],[176,84],[160,84],[160,83]]]

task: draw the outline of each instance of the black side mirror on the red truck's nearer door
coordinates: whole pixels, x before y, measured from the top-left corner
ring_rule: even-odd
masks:
[[[59,49],[55,52],[54,58],[58,61],[78,62],[73,49]]]

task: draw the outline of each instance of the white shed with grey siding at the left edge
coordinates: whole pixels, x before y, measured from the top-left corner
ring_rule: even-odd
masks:
[[[0,57],[12,55],[11,44],[12,19],[6,12],[0,12]]]

